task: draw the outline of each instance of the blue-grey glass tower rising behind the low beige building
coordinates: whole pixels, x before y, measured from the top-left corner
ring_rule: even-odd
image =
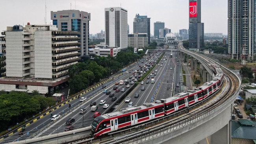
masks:
[[[146,15],[136,14],[134,18],[134,33],[147,33],[150,44],[150,18]]]

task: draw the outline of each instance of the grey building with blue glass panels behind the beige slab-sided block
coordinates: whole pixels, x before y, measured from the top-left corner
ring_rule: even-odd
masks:
[[[81,36],[81,56],[88,55],[89,44],[89,21],[91,20],[91,13],[79,10],[62,10],[51,11],[52,24],[56,25],[61,31],[78,31]]]

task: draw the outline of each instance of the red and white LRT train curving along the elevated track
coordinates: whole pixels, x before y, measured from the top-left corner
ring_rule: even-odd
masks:
[[[124,127],[148,122],[152,119],[185,109],[208,98],[221,88],[224,77],[224,73],[216,65],[215,67],[211,65],[211,69],[215,72],[213,79],[193,90],[175,94],[170,98],[156,100],[155,103],[144,103],[140,106],[135,105],[96,117],[92,124],[91,135],[98,137]]]

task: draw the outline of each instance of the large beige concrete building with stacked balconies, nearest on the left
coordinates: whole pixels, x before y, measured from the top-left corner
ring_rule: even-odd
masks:
[[[80,60],[80,32],[57,31],[54,25],[7,27],[6,64],[0,89],[50,94],[68,81],[68,70]]]

